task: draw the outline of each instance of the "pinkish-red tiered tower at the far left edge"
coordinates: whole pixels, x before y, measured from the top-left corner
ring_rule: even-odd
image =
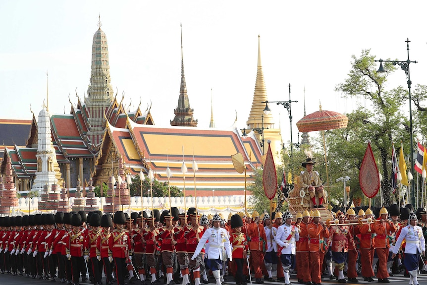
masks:
[[[5,181],[0,175],[0,214],[10,214],[11,207],[18,206],[18,198],[16,197],[15,183],[13,183],[12,163],[10,158],[6,159]]]

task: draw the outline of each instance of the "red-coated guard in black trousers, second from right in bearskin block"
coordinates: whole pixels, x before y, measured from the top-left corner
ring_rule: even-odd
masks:
[[[112,253],[109,250],[109,237],[113,227],[111,215],[104,214],[101,218],[102,231],[97,239],[97,259],[103,262],[105,274],[107,277],[107,285],[113,283],[112,278]]]

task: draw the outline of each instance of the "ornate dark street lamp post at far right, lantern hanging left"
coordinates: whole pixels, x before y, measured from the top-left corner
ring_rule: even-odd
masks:
[[[387,73],[387,70],[385,70],[384,66],[382,65],[382,62],[391,62],[393,63],[393,65],[399,65],[400,68],[402,68],[403,71],[405,71],[406,74],[406,79],[408,79],[407,83],[408,83],[408,90],[409,90],[409,136],[410,136],[410,141],[411,141],[411,173],[414,173],[414,137],[413,137],[413,133],[412,133],[412,97],[411,97],[411,75],[409,72],[409,64],[410,63],[417,63],[416,60],[412,61],[409,59],[409,38],[406,39],[406,50],[407,50],[407,54],[408,54],[408,59],[406,60],[376,60],[377,62],[379,62],[379,68],[376,71],[376,73],[378,73],[380,76],[385,76],[385,74]],[[411,180],[411,204],[415,205],[415,181],[414,179]]]

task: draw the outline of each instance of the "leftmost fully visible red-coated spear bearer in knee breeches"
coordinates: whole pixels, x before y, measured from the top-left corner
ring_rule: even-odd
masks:
[[[157,280],[156,268],[159,265],[160,256],[160,242],[159,242],[159,229],[155,227],[156,221],[160,221],[159,210],[152,212],[152,217],[148,217],[145,220],[148,223],[148,228],[144,229],[143,242],[145,242],[145,255],[147,258],[147,266],[150,268],[151,273],[151,284],[159,284]]]

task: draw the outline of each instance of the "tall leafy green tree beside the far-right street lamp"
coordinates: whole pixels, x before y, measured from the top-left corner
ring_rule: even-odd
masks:
[[[407,143],[409,137],[408,130],[404,128],[406,120],[399,110],[402,103],[401,99],[405,98],[406,91],[402,87],[390,91],[384,90],[384,83],[387,79],[376,73],[377,67],[374,58],[370,54],[370,50],[363,50],[360,57],[352,56],[352,68],[348,77],[344,83],[336,85],[335,90],[341,92],[344,97],[363,98],[371,103],[373,112],[365,111],[367,117],[362,119],[362,123],[365,124],[363,129],[366,132],[363,137],[370,138],[373,150],[377,152],[377,155],[379,153],[377,157],[380,158],[380,168],[383,173],[381,187],[384,193],[384,205],[388,206],[391,189],[389,161],[391,161],[393,138],[397,138],[397,141],[401,139]],[[390,62],[383,62],[383,64],[389,74],[396,70],[396,67]],[[363,106],[359,107],[363,108]],[[357,138],[355,139],[357,140]],[[362,142],[361,139],[352,141],[352,143]]]

